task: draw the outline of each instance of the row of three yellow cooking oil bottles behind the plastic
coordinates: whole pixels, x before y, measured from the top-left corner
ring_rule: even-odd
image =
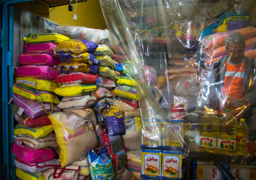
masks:
[[[200,117],[199,149],[225,155],[245,155],[248,127],[245,119],[237,119],[230,109],[220,118],[213,109]]]

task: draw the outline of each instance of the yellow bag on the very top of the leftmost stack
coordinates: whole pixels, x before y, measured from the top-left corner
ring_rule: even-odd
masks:
[[[39,44],[39,43],[54,43],[59,44],[62,41],[70,40],[67,36],[60,35],[57,33],[38,33],[29,34],[27,38],[23,38],[23,41],[29,44]]]

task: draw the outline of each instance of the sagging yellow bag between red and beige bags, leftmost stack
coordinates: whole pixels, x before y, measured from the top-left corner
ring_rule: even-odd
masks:
[[[28,134],[34,136],[36,139],[47,136],[52,132],[52,125],[30,128],[20,124],[14,128],[14,135]]]

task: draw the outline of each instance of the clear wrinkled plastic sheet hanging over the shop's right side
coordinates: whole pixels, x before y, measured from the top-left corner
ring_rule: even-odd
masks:
[[[142,148],[183,151],[183,157],[209,161],[255,164],[252,146],[256,140],[253,27],[256,5],[253,1],[223,0],[218,6],[216,3],[215,0],[100,0],[115,54],[127,67],[126,75],[137,83]],[[242,52],[234,49],[228,52],[225,47],[226,37],[235,32],[246,39]],[[232,75],[225,73],[230,71],[225,66],[214,68],[221,58],[225,64],[238,53],[240,57],[244,54],[242,62],[246,63]],[[173,117],[175,108],[181,108],[178,118]],[[200,117],[207,108],[212,108],[218,117],[225,109],[231,109],[238,122],[246,119],[250,147],[243,156],[199,150]]]

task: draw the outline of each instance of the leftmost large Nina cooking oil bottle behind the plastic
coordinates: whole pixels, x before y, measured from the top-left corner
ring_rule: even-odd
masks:
[[[219,118],[213,109],[200,117],[199,149],[206,152],[216,152]]]

